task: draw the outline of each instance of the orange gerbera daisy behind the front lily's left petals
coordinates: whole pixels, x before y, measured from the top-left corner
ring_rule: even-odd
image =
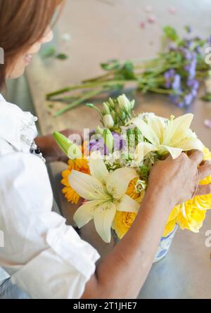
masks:
[[[79,195],[77,192],[72,189],[69,183],[69,177],[72,173],[72,170],[76,170],[78,172],[82,172],[84,174],[90,174],[89,171],[89,165],[87,159],[76,159],[75,161],[69,160],[68,161],[68,170],[65,170],[62,173],[63,180],[61,183],[65,186],[63,188],[63,194],[65,195],[65,198],[68,200],[68,202],[71,202],[72,204],[77,204],[79,202]]]

